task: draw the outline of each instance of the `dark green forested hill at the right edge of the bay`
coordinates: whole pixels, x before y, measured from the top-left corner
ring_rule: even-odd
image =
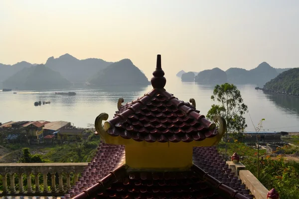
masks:
[[[293,68],[279,74],[267,82],[264,90],[288,95],[299,95],[299,68]]]

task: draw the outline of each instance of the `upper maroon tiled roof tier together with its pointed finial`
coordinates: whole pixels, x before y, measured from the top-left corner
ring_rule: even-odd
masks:
[[[165,91],[160,55],[152,74],[153,90],[132,102],[119,103],[115,117],[105,122],[109,124],[105,129],[109,135],[138,142],[191,142],[217,135],[216,124],[199,114],[194,99],[190,104]]]

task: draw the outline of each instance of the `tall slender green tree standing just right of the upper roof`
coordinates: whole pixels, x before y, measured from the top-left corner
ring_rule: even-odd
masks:
[[[227,153],[228,132],[244,132],[247,127],[243,114],[247,112],[247,105],[243,103],[240,91],[233,84],[225,83],[216,85],[211,96],[213,101],[217,100],[219,104],[213,104],[207,113],[207,118],[213,119],[214,115],[220,115],[226,120],[225,134],[225,159]]]

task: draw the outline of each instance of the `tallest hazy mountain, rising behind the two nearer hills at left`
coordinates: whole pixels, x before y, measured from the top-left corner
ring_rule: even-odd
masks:
[[[85,83],[91,76],[111,63],[96,58],[79,60],[70,54],[64,54],[58,58],[48,58],[45,66],[59,72],[71,82]]]

